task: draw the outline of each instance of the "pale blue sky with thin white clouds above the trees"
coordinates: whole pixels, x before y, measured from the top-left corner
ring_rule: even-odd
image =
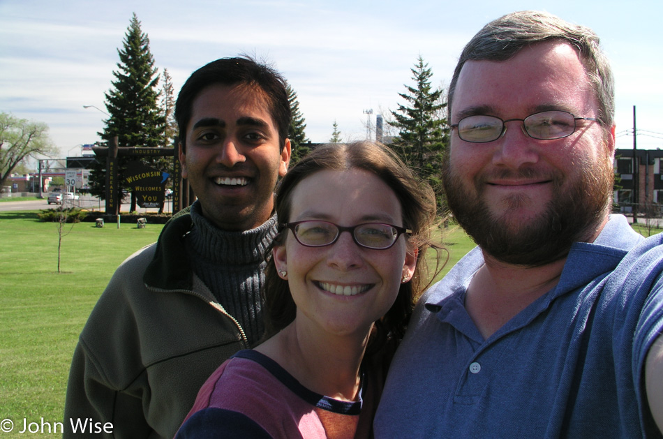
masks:
[[[407,3],[407,5],[405,4]],[[299,96],[306,135],[366,137],[366,121],[395,110],[417,57],[448,84],[465,43],[514,10],[547,10],[594,29],[616,75],[618,148],[663,147],[663,1],[0,0],[0,111],[43,121],[62,155],[100,140],[104,92],[136,13],[176,94],[196,68],[248,53],[267,59]],[[364,110],[372,109],[367,116]],[[621,133],[621,134],[620,134]]]

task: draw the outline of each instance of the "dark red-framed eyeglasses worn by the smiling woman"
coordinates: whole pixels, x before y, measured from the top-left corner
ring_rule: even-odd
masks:
[[[329,246],[336,242],[342,232],[347,231],[350,232],[358,246],[386,250],[393,246],[396,239],[403,233],[412,233],[412,230],[384,223],[364,223],[343,227],[329,223],[329,221],[307,220],[281,223],[281,226],[292,230],[297,242],[305,247]]]

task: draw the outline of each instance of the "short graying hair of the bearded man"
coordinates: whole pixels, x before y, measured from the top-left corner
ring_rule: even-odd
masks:
[[[465,45],[449,84],[449,114],[456,83],[466,61],[507,61],[524,48],[549,40],[569,43],[578,51],[599,105],[597,119],[604,128],[613,126],[615,86],[609,61],[599,45],[599,37],[588,27],[565,22],[549,13],[530,10],[493,20]]]

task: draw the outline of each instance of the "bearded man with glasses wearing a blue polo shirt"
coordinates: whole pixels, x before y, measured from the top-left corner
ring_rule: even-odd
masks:
[[[663,426],[663,246],[610,215],[597,36],[501,17],[449,87],[449,207],[478,247],[424,295],[377,438],[643,438]]]

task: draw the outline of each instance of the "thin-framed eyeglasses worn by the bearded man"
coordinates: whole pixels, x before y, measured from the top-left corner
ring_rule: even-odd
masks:
[[[593,117],[575,117],[565,111],[544,111],[532,114],[525,119],[509,119],[503,121],[499,117],[477,114],[463,117],[458,124],[451,127],[458,129],[458,137],[465,142],[486,143],[498,140],[507,132],[505,124],[521,121],[528,136],[537,140],[553,140],[568,137],[576,131],[576,121],[598,121]]]

